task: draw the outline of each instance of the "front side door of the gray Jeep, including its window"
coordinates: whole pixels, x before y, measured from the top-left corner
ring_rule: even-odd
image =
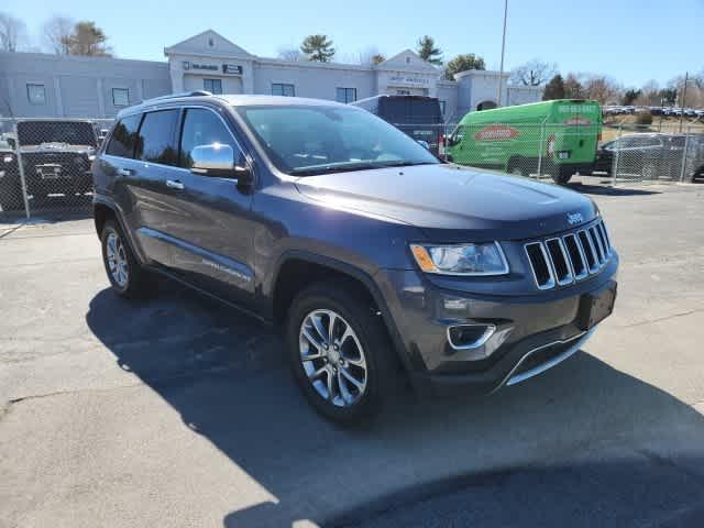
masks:
[[[228,144],[235,164],[245,156],[218,111],[187,108],[180,127],[178,167],[166,182],[167,233],[175,274],[238,302],[254,295],[252,195],[237,179],[196,174],[190,152],[198,145]]]

